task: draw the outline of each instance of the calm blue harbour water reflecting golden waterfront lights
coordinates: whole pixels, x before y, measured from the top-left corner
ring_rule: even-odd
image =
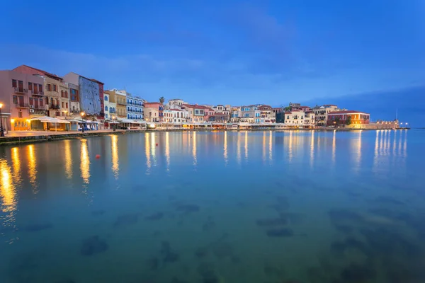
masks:
[[[424,158],[414,129],[1,146],[0,282],[425,282]]]

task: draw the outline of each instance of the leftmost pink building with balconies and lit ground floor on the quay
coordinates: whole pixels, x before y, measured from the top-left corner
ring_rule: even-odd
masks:
[[[44,81],[18,71],[0,71],[0,103],[6,130],[30,129],[30,118],[45,115]]]

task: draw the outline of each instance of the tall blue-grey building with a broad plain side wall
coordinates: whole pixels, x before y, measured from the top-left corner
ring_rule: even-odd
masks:
[[[103,90],[101,91],[101,88],[99,88],[98,81],[88,79],[74,72],[66,74],[64,76],[64,81],[72,83],[74,86],[78,86],[79,110],[84,112],[86,117],[92,116],[94,118],[101,115],[101,112],[103,112],[103,108],[101,108],[101,96],[103,96]],[[77,113],[75,115],[77,115]]]

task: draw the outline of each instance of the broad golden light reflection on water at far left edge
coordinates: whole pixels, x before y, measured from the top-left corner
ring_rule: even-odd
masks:
[[[6,214],[1,222],[4,226],[12,226],[17,206],[16,187],[13,184],[11,167],[6,160],[0,160],[0,179],[1,211]]]

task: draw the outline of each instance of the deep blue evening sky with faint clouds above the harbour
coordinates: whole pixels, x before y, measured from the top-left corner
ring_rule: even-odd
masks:
[[[0,69],[75,71],[147,100],[353,108],[373,96],[384,117],[372,119],[390,118],[395,97],[425,102],[423,0],[16,0],[0,25]]]

